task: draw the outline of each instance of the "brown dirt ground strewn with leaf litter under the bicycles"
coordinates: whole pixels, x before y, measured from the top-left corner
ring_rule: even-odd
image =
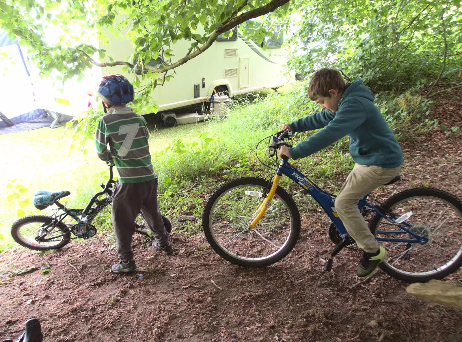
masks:
[[[454,96],[462,92],[433,109],[448,127],[462,126]],[[462,135],[445,133],[402,142],[403,183],[377,195],[432,186],[462,198]],[[0,338],[17,337],[36,317],[46,341],[462,341],[462,312],[407,295],[407,283],[382,271],[359,283],[359,251],[344,249],[324,272],[327,216],[301,214],[292,253],[261,269],[224,261],[202,234],[174,235],[173,256],[135,236],[143,280],[110,273],[116,251],[103,235],[47,254],[1,254]],[[462,272],[445,280],[462,283]]]

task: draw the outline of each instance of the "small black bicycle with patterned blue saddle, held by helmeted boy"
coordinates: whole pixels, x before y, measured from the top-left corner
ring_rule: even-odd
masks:
[[[100,186],[103,191],[96,193],[91,197],[85,209],[69,209],[59,202],[61,198],[69,196],[69,191],[49,192],[40,190],[41,203],[34,203],[38,209],[45,209],[53,204],[58,206],[55,213],[51,216],[46,215],[29,215],[16,220],[11,228],[13,239],[20,245],[34,249],[59,249],[64,247],[70,240],[83,238],[88,239],[97,233],[96,227],[91,222],[96,216],[112,202],[112,187],[116,183],[112,179],[112,168],[109,165],[109,180]],[[98,197],[103,196],[102,199]],[[67,223],[66,218],[73,218],[76,223]],[[170,221],[162,215],[165,230],[171,232],[172,226]],[[140,214],[135,220],[136,232],[148,236],[151,233],[145,219]],[[71,233],[75,237],[71,237]]]

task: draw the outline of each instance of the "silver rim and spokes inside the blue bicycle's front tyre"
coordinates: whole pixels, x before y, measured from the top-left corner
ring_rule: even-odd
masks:
[[[260,262],[288,248],[293,234],[293,215],[278,194],[255,228],[247,228],[264,200],[255,193],[262,193],[264,189],[256,184],[237,185],[221,194],[212,206],[209,226],[213,240],[232,259]],[[248,195],[249,192],[253,195]]]

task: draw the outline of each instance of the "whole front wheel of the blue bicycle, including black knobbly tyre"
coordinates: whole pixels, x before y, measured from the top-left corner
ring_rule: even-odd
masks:
[[[207,200],[202,227],[210,246],[236,265],[267,266],[284,258],[300,234],[300,213],[292,197],[278,186],[254,229],[248,224],[260,207],[266,179],[243,177],[221,185]]]

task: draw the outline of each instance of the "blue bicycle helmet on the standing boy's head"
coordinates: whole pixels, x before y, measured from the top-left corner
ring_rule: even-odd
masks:
[[[123,106],[134,100],[132,83],[122,75],[104,76],[96,92],[111,106]]]

